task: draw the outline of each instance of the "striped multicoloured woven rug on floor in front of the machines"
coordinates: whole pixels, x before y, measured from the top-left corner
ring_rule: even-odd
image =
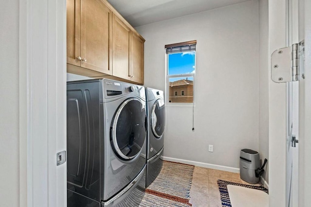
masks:
[[[146,189],[140,207],[189,207],[194,166],[163,161],[155,181]]]

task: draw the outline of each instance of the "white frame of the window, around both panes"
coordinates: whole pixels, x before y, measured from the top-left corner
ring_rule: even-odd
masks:
[[[190,41],[191,42],[191,41]],[[187,42],[186,42],[187,43]],[[177,43],[173,45],[187,45],[182,43]],[[196,41],[195,41],[196,45]],[[165,75],[166,75],[166,82],[165,82],[165,104],[166,106],[188,106],[188,107],[194,107],[195,106],[195,74],[196,74],[196,49],[192,50],[194,52],[194,73],[187,73],[187,74],[178,74],[178,75],[169,75],[169,55],[174,53],[182,53],[182,52],[174,52],[174,53],[165,53]],[[190,77],[193,79],[193,102],[192,103],[172,103],[169,102],[170,99],[170,79],[172,78],[187,78]],[[174,94],[175,95],[175,94]]]

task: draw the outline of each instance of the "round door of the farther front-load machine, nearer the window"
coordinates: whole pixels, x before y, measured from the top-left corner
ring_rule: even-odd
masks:
[[[164,100],[159,98],[155,101],[151,111],[151,130],[156,138],[161,138],[165,128],[165,105]]]

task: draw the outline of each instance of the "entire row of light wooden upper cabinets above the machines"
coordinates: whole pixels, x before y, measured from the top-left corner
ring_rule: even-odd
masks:
[[[106,0],[67,0],[67,71],[143,84],[145,40]]]

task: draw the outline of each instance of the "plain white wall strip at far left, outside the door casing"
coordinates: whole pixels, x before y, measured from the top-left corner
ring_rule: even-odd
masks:
[[[0,12],[0,206],[19,206],[18,0]]]

